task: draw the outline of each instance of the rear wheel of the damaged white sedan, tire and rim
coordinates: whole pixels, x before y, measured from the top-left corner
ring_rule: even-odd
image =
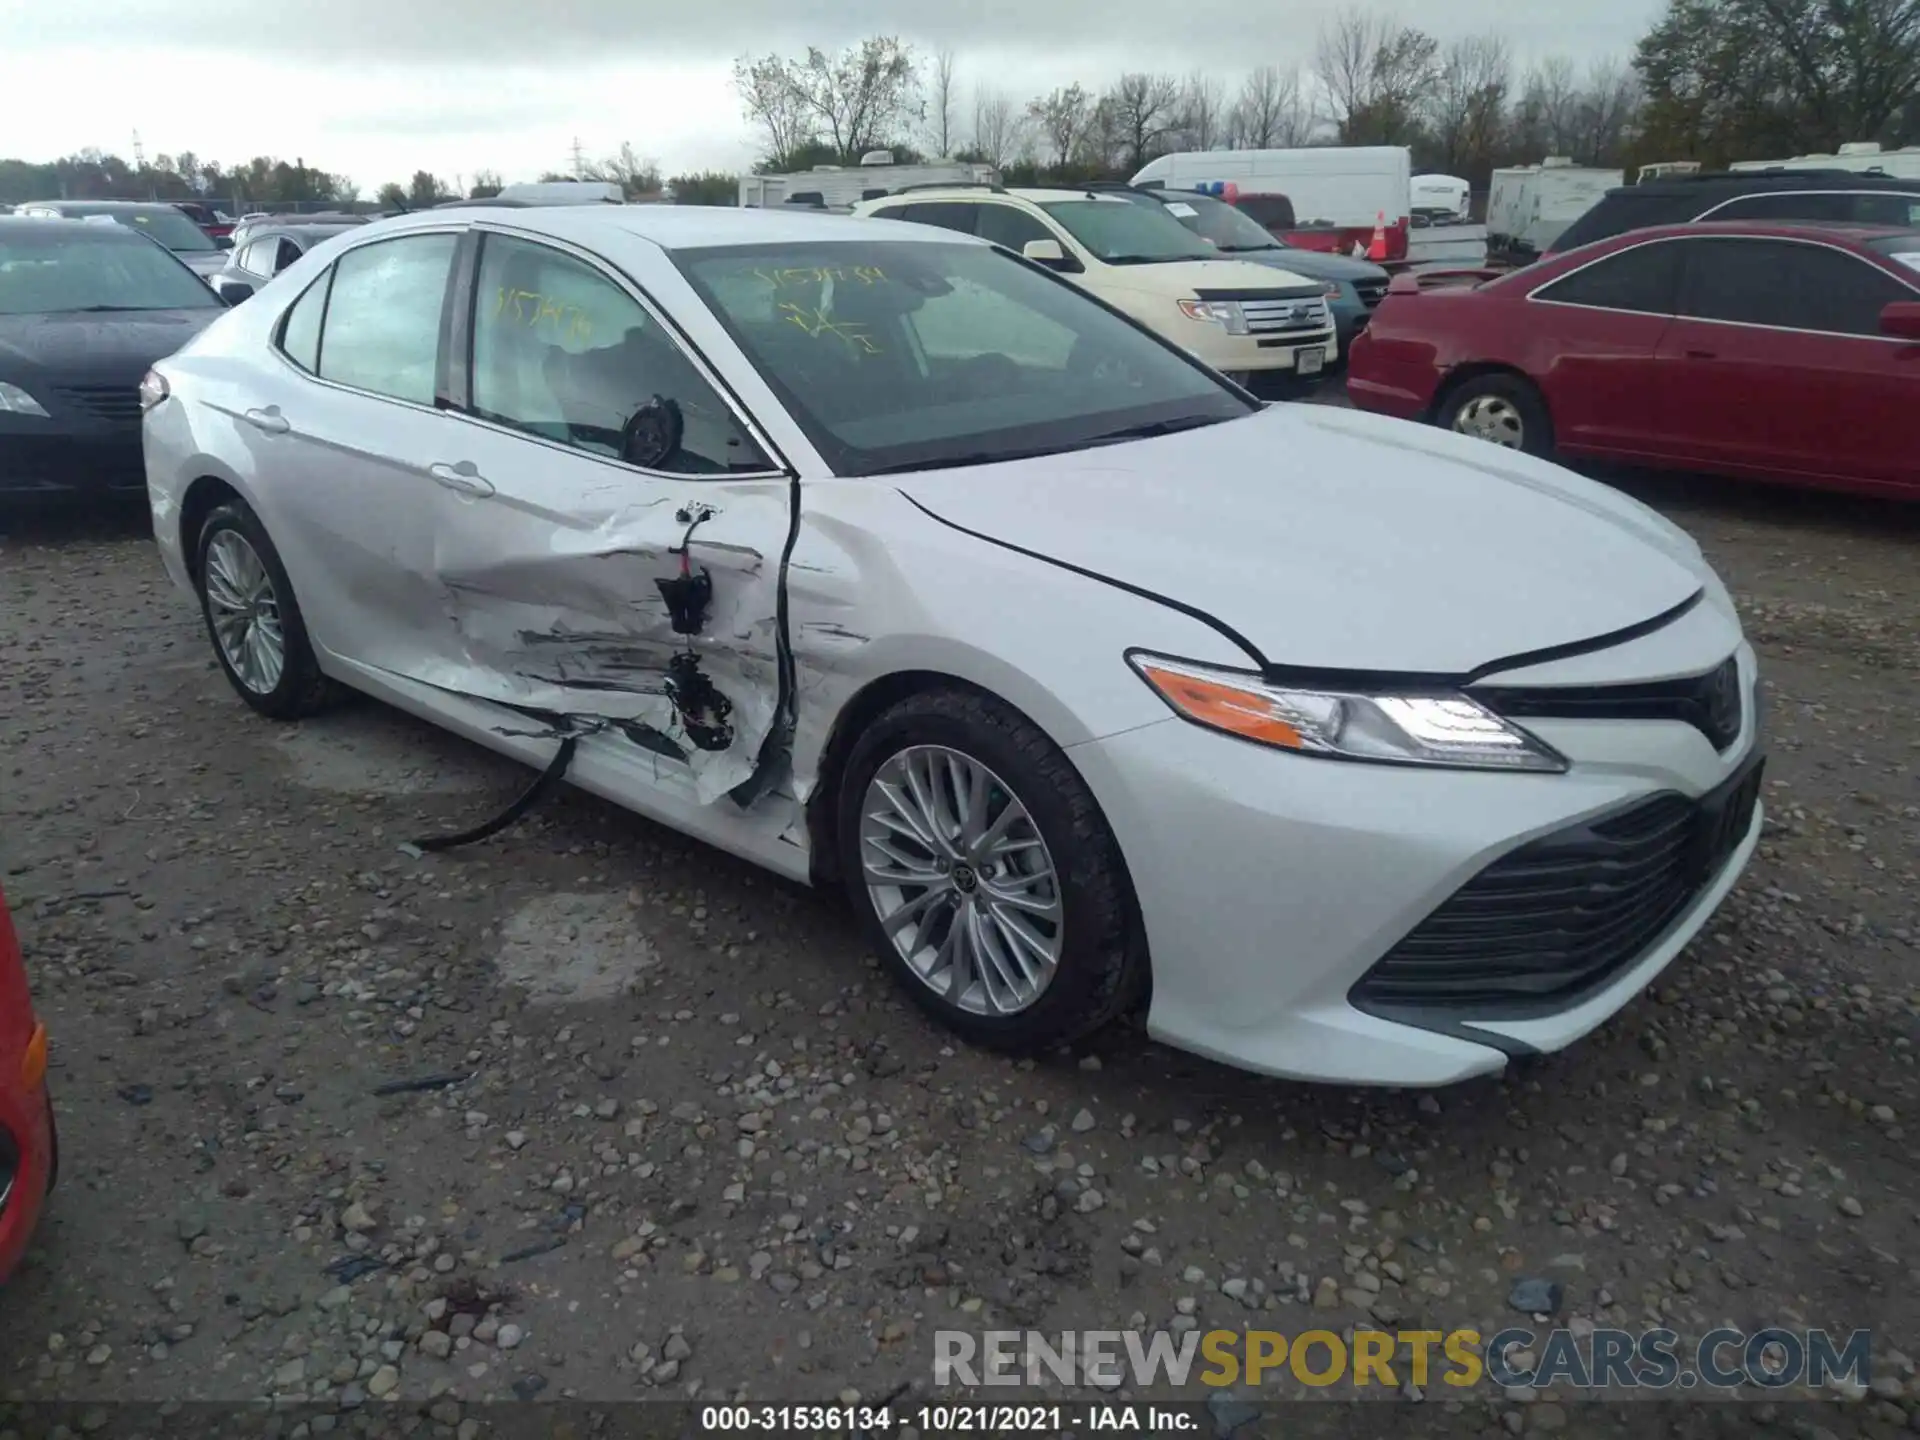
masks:
[[[240,699],[275,720],[300,720],[323,708],[326,676],[313,657],[280,553],[253,509],[234,499],[207,515],[196,557],[207,639]]]

